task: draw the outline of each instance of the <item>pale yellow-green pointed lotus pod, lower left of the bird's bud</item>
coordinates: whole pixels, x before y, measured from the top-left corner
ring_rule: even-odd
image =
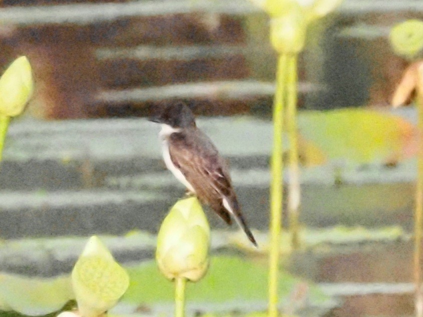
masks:
[[[82,317],[97,317],[112,308],[129,286],[125,269],[97,236],[92,236],[72,270]]]

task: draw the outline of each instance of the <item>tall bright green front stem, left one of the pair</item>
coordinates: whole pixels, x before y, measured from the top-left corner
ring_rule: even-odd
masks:
[[[278,273],[280,231],[282,226],[282,193],[283,193],[283,163],[282,163],[282,131],[283,103],[285,95],[285,77],[287,70],[287,54],[278,57],[276,72],[276,91],[273,104],[273,152],[271,157],[270,184],[270,251],[269,251],[269,317],[278,315]]]

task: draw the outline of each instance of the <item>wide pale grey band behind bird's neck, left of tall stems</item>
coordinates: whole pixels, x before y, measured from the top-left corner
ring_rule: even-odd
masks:
[[[251,116],[199,117],[197,122],[226,157],[268,156],[270,153],[272,124],[268,120]],[[98,162],[139,157],[161,159],[159,130],[160,126],[147,118],[17,119],[8,132],[4,159],[5,162],[51,159],[64,164],[84,159]],[[228,131],[234,137],[229,138]],[[145,167],[150,170],[150,166]]]

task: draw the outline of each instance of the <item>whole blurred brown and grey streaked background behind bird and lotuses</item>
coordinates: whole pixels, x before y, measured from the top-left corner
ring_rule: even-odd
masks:
[[[36,89],[11,124],[0,172],[1,270],[68,272],[91,234],[108,235],[125,263],[152,258],[151,239],[121,238],[138,230],[153,236],[184,194],[162,162],[159,127],[145,118],[173,100],[194,110],[231,162],[243,212],[265,252],[276,53],[263,11],[247,0],[2,0],[0,6],[0,68],[27,55]],[[409,61],[393,53],[389,30],[422,17],[420,0],[344,0],[308,29],[298,64],[299,109],[390,113]],[[376,125],[362,121],[367,117],[343,112],[355,117],[352,125],[339,121],[327,132],[325,124],[339,117],[317,127],[316,114],[303,112],[305,136],[352,140],[341,154],[329,147],[327,159],[311,145],[303,148],[300,221],[317,231],[284,264],[343,299],[326,316],[412,315],[415,159],[407,151],[415,111],[395,112],[401,120],[392,119],[394,131],[381,129],[390,150],[389,142],[399,141],[393,141],[398,151],[379,156],[355,145],[377,139]],[[380,120],[378,128],[393,122]],[[356,126],[368,129],[350,133]],[[225,235],[235,226],[208,216],[220,232],[213,234],[214,252],[259,257],[239,242],[242,235],[235,242]],[[333,226],[342,228],[319,231]],[[306,306],[305,297],[307,291],[294,303]]]

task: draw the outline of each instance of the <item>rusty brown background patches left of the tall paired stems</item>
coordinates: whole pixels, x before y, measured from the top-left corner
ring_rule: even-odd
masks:
[[[146,104],[99,104],[95,96],[107,88],[128,89],[190,81],[242,79],[249,75],[239,53],[188,60],[174,58],[99,59],[98,48],[125,49],[137,45],[242,44],[239,17],[226,14],[171,14],[121,18],[89,25],[16,26],[0,32],[0,62],[4,67],[20,54],[33,64],[36,93],[30,112],[44,118],[145,115]],[[190,100],[188,100],[190,101]],[[217,111],[238,113],[245,102],[217,102]],[[93,106],[93,104],[95,106]],[[146,108],[147,106],[147,108]]]

